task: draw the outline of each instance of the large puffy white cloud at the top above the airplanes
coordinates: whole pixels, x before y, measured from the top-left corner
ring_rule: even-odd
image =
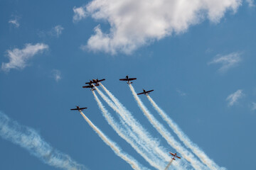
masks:
[[[75,21],[86,16],[110,23],[109,33],[100,26],[87,41],[87,49],[131,53],[142,45],[174,33],[208,18],[218,23],[226,11],[235,12],[242,0],[93,0],[87,6],[73,8]]]

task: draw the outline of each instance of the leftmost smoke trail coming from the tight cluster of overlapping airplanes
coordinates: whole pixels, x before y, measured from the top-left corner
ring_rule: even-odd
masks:
[[[129,131],[129,128],[127,126],[124,126],[127,130],[124,130],[119,125],[117,125],[116,121],[110,113],[105,109],[105,107],[102,105],[100,99],[97,97],[94,91],[92,91],[92,94],[95,97],[95,100],[97,101],[97,105],[99,106],[100,110],[102,111],[103,116],[107,120],[107,123],[114,129],[117,134],[122,137],[126,142],[128,142],[145,160],[146,162],[149,162],[151,166],[154,166],[156,169],[163,169],[163,165],[161,166],[161,163],[159,159],[154,157],[153,154],[146,153],[146,148],[143,145],[137,145],[135,141],[139,142],[139,139],[137,136],[133,135],[132,131]],[[132,140],[133,139],[133,140]],[[145,150],[146,149],[146,150]],[[150,158],[149,158],[150,156]]]

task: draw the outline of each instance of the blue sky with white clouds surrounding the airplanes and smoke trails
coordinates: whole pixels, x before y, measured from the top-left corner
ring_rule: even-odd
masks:
[[[119,81],[129,74],[137,77],[138,93],[154,89],[151,98],[218,166],[256,169],[254,3],[0,1],[0,112],[87,169],[132,169],[70,111],[85,106],[105,135],[154,169],[107,124],[92,92],[82,89],[90,79],[105,78],[102,84],[161,147],[176,152]],[[146,96],[139,98],[183,145]],[[0,148],[0,169],[57,169],[3,135]]]

